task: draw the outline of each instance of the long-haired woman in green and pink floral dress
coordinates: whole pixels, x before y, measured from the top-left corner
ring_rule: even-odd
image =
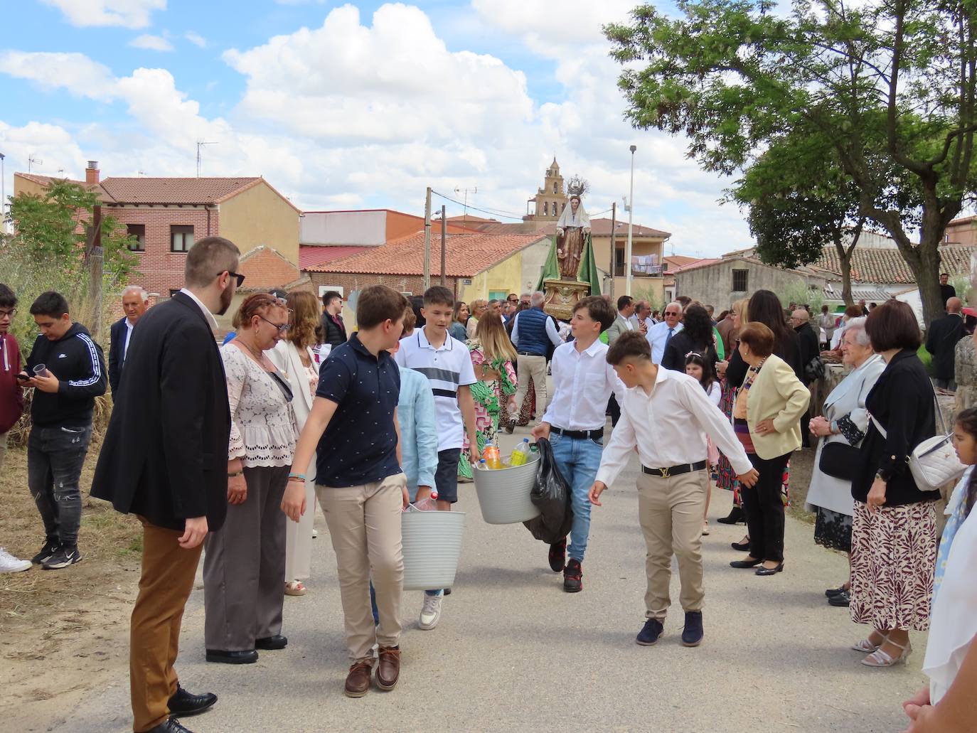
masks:
[[[471,386],[475,401],[475,427],[478,433],[479,452],[486,446],[497,446],[499,413],[505,403],[509,412],[515,412],[516,370],[512,363],[516,350],[512,347],[502,319],[491,311],[479,320],[475,336],[467,342],[472,356],[472,366],[479,381]],[[468,438],[458,461],[458,476],[472,478],[472,466],[465,457]]]

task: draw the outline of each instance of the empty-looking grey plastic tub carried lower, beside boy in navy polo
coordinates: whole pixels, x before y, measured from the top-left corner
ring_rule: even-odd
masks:
[[[420,511],[401,515],[404,590],[449,588],[454,584],[465,534],[465,512]]]

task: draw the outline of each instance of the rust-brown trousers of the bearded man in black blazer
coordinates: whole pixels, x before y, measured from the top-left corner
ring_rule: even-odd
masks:
[[[132,610],[129,687],[135,731],[146,731],[169,717],[177,691],[173,668],[180,645],[180,622],[193,589],[202,542],[193,549],[177,543],[179,530],[143,522],[143,573]]]

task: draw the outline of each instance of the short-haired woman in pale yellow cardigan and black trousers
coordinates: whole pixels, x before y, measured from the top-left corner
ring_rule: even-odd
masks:
[[[742,487],[749,529],[749,555],[734,568],[754,568],[758,576],[784,570],[784,501],[781,485],[790,453],[800,448],[800,416],[811,393],[783,359],[773,354],[774,332],[763,323],[740,331],[740,356],[749,366],[733,407],[733,429],[760,478]]]

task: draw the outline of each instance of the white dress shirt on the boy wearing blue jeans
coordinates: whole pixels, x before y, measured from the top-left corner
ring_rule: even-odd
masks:
[[[604,427],[611,393],[619,404],[625,392],[624,383],[608,364],[607,354],[608,345],[600,340],[582,352],[577,351],[575,341],[556,347],[552,365],[555,394],[542,422],[564,430]]]

